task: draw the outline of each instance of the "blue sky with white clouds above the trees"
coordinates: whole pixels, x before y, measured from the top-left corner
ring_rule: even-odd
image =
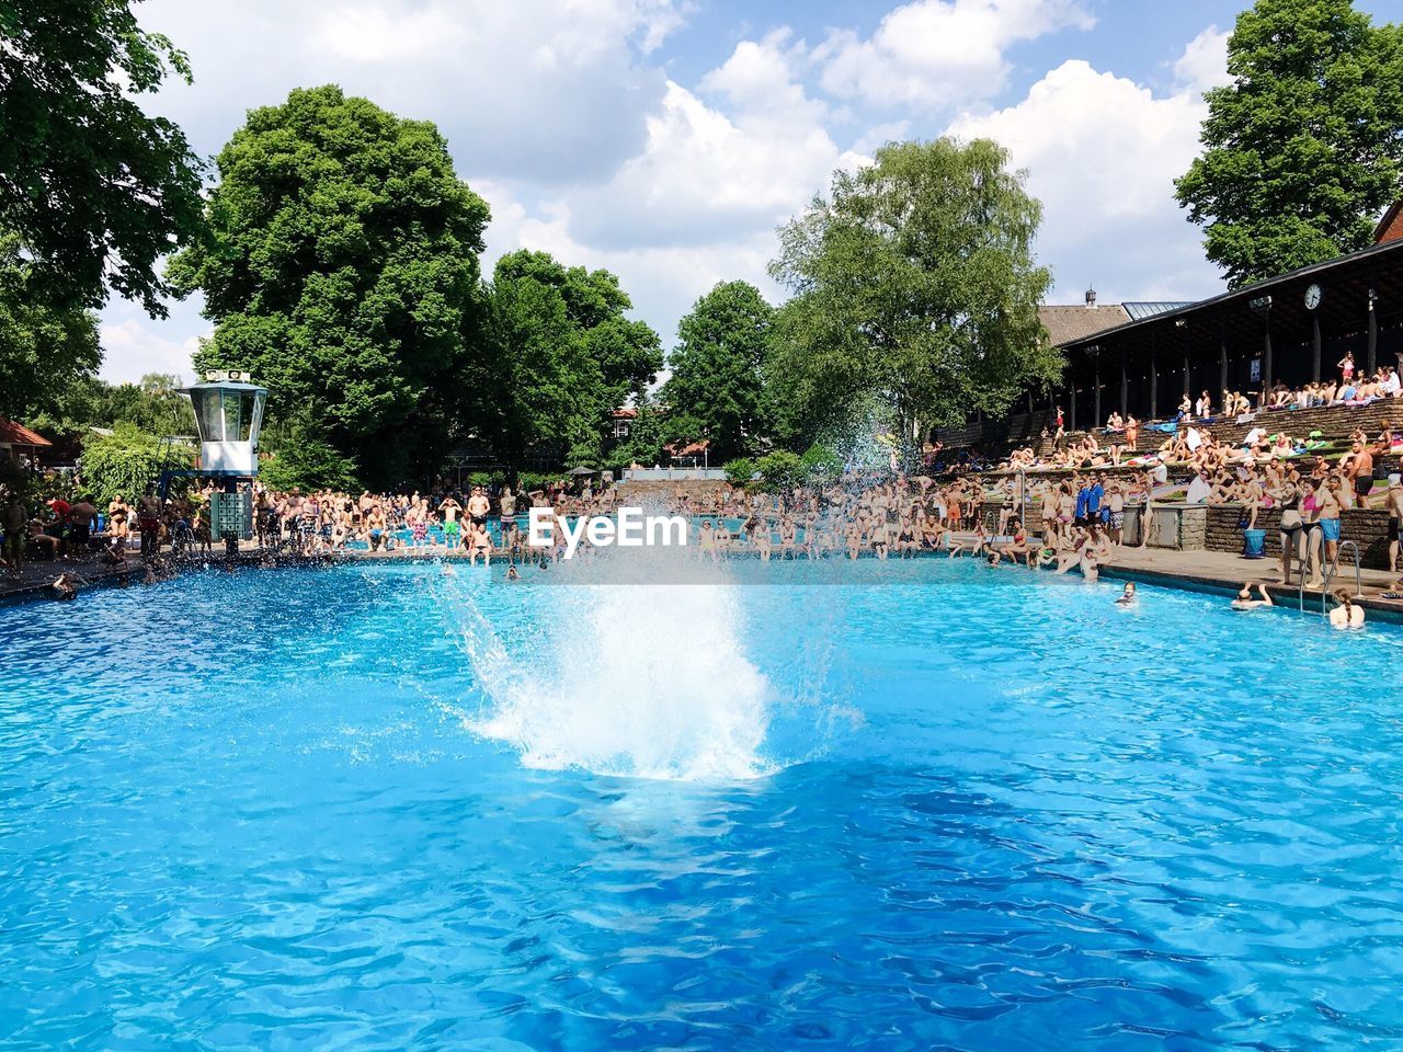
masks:
[[[1376,21],[1403,0],[1358,7]],[[888,139],[988,135],[1044,202],[1051,302],[1221,289],[1172,198],[1242,10],[1212,0],[146,0],[195,84],[149,101],[215,154],[244,111],[335,81],[435,121],[518,247],[620,275],[671,346],[718,281]],[[104,311],[102,375],[188,376],[199,303]]]

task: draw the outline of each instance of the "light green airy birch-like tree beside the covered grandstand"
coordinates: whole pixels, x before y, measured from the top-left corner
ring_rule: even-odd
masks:
[[[1037,317],[1042,209],[1007,160],[988,139],[888,144],[780,229],[770,272],[794,299],[769,372],[791,428],[812,435],[877,396],[911,440],[1056,379]]]

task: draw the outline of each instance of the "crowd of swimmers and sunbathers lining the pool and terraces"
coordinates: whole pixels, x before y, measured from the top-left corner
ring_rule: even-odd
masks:
[[[1364,384],[1345,376],[1341,384],[1308,386],[1285,393],[1284,400],[1273,396],[1271,404],[1329,404],[1338,401],[1341,391],[1361,390],[1369,398],[1390,397],[1397,393],[1397,373],[1379,370]],[[1239,400],[1225,391],[1222,410],[1246,408]],[[1181,408],[1186,419],[1211,418],[1214,405],[1205,391]],[[1127,543],[1132,509],[1141,512],[1134,543],[1145,546],[1145,526],[1156,502],[1235,505],[1240,508],[1239,526],[1247,530],[1274,512],[1267,522],[1280,533],[1282,582],[1292,584],[1296,568],[1303,567],[1306,585],[1315,588],[1322,586],[1323,568],[1336,558],[1343,513],[1375,508],[1388,512],[1389,565],[1393,572],[1403,571],[1403,487],[1396,474],[1381,485],[1379,471],[1383,457],[1403,449],[1403,438],[1388,422],[1378,433],[1357,431],[1347,449],[1264,426],[1253,426],[1242,440],[1225,442],[1193,422],[1166,429],[1157,447],[1142,449],[1141,422],[1118,414],[1110,417],[1101,436],[1066,442],[1061,419],[1058,431],[1061,440],[1048,456],[1016,449],[998,466],[967,460],[964,473],[941,478],[908,477],[894,466],[891,471],[850,473],[780,492],[717,484],[679,485],[654,497],[661,505],[657,511],[690,516],[700,558],[888,560],[939,553],[1059,574],[1076,569],[1092,581]],[[981,470],[993,467],[998,470]],[[1028,476],[1056,468],[1056,478]],[[74,492],[81,492],[80,481]],[[31,508],[14,490],[3,488],[0,568],[17,572],[27,560],[63,564],[100,558],[125,565],[137,558],[146,579],[159,579],[181,554],[212,554],[217,540],[209,519],[212,494],[210,484],[161,499],[147,487],[133,501],[116,494],[105,508],[90,495],[53,498]],[[515,492],[509,485],[438,485],[400,494],[278,492],[254,483],[248,499],[251,532],[265,558],[462,553],[471,562],[506,560],[513,575],[516,567],[549,567],[563,557],[563,523],[609,515],[633,502],[624,490],[593,478],[560,480],[532,492]],[[529,540],[526,512],[532,508],[554,513],[556,526],[544,544]],[[55,585],[60,598],[72,584],[65,578],[62,588]],[[1242,602],[1270,602],[1270,596],[1249,592]]]

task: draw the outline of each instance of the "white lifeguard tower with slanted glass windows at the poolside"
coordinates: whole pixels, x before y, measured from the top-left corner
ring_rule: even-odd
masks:
[[[262,429],[268,390],[248,373],[216,370],[181,394],[195,408],[199,431],[199,467],[194,471],[163,473],[164,497],[170,474],[208,476],[223,480],[223,492],[210,494],[210,540],[223,540],[230,555],[239,554],[239,541],[254,536],[253,491],[240,490],[243,481],[258,477],[258,432]]]

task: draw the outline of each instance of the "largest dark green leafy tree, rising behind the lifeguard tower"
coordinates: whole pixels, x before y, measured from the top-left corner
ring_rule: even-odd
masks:
[[[251,111],[217,166],[209,237],[170,267],[215,323],[196,366],[251,370],[368,483],[427,473],[477,352],[488,217],[443,137],[325,86]]]

